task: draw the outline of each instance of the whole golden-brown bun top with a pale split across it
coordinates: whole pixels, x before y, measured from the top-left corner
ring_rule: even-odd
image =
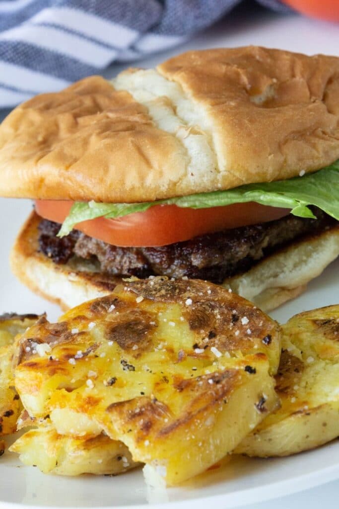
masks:
[[[0,126],[0,194],[143,202],[288,179],[339,158],[339,58],[190,51],[85,78]]]

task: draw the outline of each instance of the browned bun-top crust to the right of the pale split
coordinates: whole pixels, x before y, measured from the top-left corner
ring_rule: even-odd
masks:
[[[247,46],[189,51],[159,71],[209,116],[221,185],[288,179],[339,157],[339,59]],[[233,186],[232,185],[232,186]]]

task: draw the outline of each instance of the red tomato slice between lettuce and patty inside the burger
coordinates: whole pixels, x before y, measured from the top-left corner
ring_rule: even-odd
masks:
[[[45,219],[63,222],[72,204],[70,201],[37,200],[35,207]],[[117,219],[99,217],[83,221],[76,225],[76,229],[115,246],[163,246],[205,233],[272,221],[288,213],[288,209],[254,202],[209,209],[155,205],[145,212],[135,212]]]

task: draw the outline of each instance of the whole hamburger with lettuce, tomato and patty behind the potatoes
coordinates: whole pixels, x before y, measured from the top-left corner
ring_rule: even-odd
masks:
[[[339,254],[338,159],[334,56],[211,49],[87,77],[0,126],[0,194],[35,201],[13,272],[63,308],[165,275],[272,309]]]

